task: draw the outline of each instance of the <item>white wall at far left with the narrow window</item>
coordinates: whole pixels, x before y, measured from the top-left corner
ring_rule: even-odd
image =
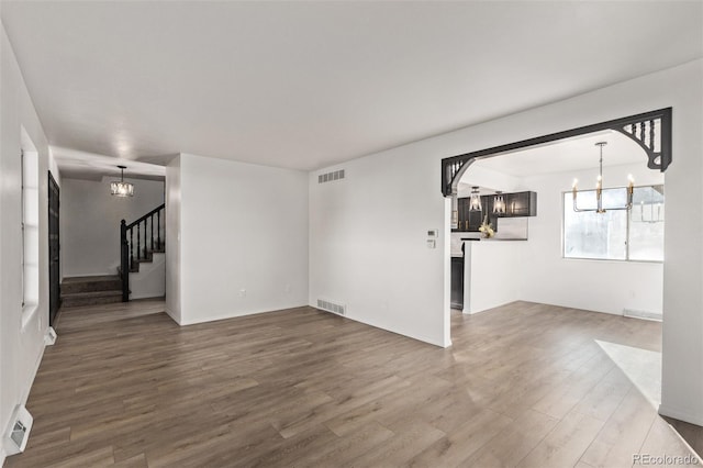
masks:
[[[20,73],[14,53],[0,25],[0,431],[7,430],[14,406],[26,402],[44,350],[48,326],[48,222],[46,136]],[[37,308],[22,325],[21,252],[22,177],[21,133],[38,153],[38,272]],[[52,163],[52,166],[55,166]],[[54,177],[60,180],[58,172]],[[0,445],[0,465],[5,458]]]

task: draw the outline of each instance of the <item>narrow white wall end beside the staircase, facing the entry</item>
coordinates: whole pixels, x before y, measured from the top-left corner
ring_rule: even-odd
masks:
[[[180,156],[166,166],[166,313],[176,323],[180,316]]]

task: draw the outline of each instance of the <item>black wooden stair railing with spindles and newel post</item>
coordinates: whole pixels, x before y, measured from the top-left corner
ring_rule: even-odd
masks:
[[[130,271],[142,259],[154,255],[154,250],[164,249],[161,238],[161,216],[165,213],[166,203],[156,207],[138,220],[127,224],[120,222],[120,275],[122,276],[122,302],[130,301]],[[156,218],[156,237],[154,237],[154,219]],[[166,220],[164,220],[166,221]],[[142,230],[142,226],[144,227]],[[134,255],[134,237],[136,227],[136,257]],[[147,235],[149,234],[150,235]],[[165,231],[164,231],[165,234]],[[144,244],[142,244],[144,241]]]

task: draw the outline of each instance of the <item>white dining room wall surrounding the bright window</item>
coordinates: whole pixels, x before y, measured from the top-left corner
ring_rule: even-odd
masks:
[[[637,186],[663,183],[663,175],[648,169],[644,153],[641,157],[641,164],[605,168],[609,187],[617,181],[624,186],[628,174],[635,177]],[[571,190],[574,177],[591,181],[593,174],[594,170],[559,172],[523,180],[526,189],[537,192],[537,216],[529,219],[529,239],[523,250],[521,299],[616,315],[622,315],[625,309],[661,314],[661,263],[562,257],[562,193]],[[665,190],[668,215],[671,207],[668,186]]]

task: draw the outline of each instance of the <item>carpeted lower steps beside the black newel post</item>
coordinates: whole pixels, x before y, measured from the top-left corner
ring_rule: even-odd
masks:
[[[77,308],[122,302],[119,276],[79,276],[62,281],[62,307]]]

